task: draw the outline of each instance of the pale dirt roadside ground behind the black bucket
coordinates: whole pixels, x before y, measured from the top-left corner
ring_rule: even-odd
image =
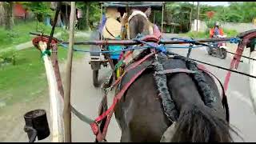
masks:
[[[23,130],[25,126],[24,114],[36,109],[49,111],[50,105],[48,103],[47,89],[45,92],[44,95],[34,98],[33,102],[23,102],[14,106],[8,106],[5,108],[5,111],[1,112],[0,142],[28,142],[27,135]]]

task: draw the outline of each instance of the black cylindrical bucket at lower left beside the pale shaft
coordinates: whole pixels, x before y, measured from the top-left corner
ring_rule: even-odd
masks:
[[[50,129],[47,122],[46,110],[31,110],[24,115],[26,126],[31,126],[37,130],[38,140],[47,138],[50,135]],[[28,133],[30,138],[30,134]]]

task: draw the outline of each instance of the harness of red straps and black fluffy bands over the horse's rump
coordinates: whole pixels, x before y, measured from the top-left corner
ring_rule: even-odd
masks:
[[[210,86],[206,83],[206,79],[202,75],[202,72],[209,74],[211,78],[213,78],[214,74],[211,74],[210,71],[206,70],[206,68],[202,65],[198,65],[195,62],[188,60],[182,56],[174,56],[173,59],[179,59],[185,61],[187,64],[187,69],[173,67],[164,69],[162,59],[167,58],[164,54],[159,54],[156,50],[150,50],[150,53],[147,54],[145,57],[137,60],[136,62],[132,62],[129,66],[126,66],[122,75],[110,86],[109,89],[112,89],[114,86],[118,86],[118,93],[114,97],[114,101],[110,108],[100,114],[98,118],[94,120],[94,122],[90,123],[91,129],[93,130],[94,134],[96,135],[96,139],[98,142],[102,142],[106,140],[106,131],[110,123],[110,119],[114,113],[114,108],[122,96],[126,93],[126,90],[129,89],[130,85],[135,82],[135,80],[142,75],[142,73],[150,67],[154,67],[154,80],[158,87],[158,93],[162,99],[162,106],[166,117],[171,122],[176,122],[178,120],[178,110],[176,110],[174,101],[171,97],[171,93],[169,92],[166,86],[166,74],[178,74],[178,73],[186,73],[192,76],[196,82],[198,82],[198,89],[203,93],[203,101],[206,106],[213,107],[213,103],[216,102],[216,98],[211,92]],[[217,78],[214,76],[214,78]],[[217,78],[218,82],[222,86],[222,82]],[[164,86],[164,87],[161,87]],[[208,91],[208,92],[207,92]],[[106,98],[107,92],[104,96]],[[226,113],[226,120],[229,122],[229,108],[228,103],[226,100],[226,94],[224,88],[222,86],[222,106]],[[104,122],[103,130],[99,129],[98,124],[102,121]]]

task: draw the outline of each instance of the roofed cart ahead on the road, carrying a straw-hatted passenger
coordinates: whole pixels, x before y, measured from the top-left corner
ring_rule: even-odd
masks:
[[[98,30],[94,31],[93,34],[91,34],[91,40],[108,40],[108,39],[116,39],[116,38],[104,38],[103,36],[103,30],[106,30],[107,33],[113,36],[113,34],[110,33],[111,30],[107,30],[106,26],[104,26],[104,19],[103,18],[103,9],[107,7],[114,7],[117,8],[118,12],[121,14],[121,17],[124,13],[129,13],[129,9],[131,7],[151,7],[151,10],[154,10],[154,18],[153,22],[155,22],[155,11],[159,11],[163,9],[164,2],[100,2],[102,5],[102,20],[100,22],[100,25],[98,26]],[[162,17],[163,17],[163,10],[162,10]],[[163,18],[162,18],[163,20]],[[114,26],[111,26],[112,29],[115,29]],[[111,29],[109,28],[109,29]],[[103,30],[102,30],[103,29]],[[126,32],[122,31],[121,37],[118,39],[127,39],[126,38]],[[93,70],[93,84],[95,87],[99,86],[98,83],[98,71],[101,69],[101,66],[108,66],[110,64],[111,68],[114,67],[114,64],[116,60],[118,60],[119,54],[116,53],[97,53],[97,51],[108,51],[108,50],[120,50],[122,49],[121,46],[90,46],[90,66]]]

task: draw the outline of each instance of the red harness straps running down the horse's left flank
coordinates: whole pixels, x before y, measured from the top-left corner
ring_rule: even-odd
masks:
[[[139,60],[138,62],[135,62],[134,64],[132,64],[130,67],[127,68],[126,71],[132,70],[135,67],[139,66],[142,62],[146,61],[147,58],[150,58],[152,55],[154,55],[155,53],[150,53],[148,55],[146,55],[146,57],[142,58],[141,60]],[[128,90],[128,88],[130,87],[130,85],[132,83],[134,83],[134,81],[146,70],[147,67],[143,68],[142,70],[140,70],[138,72],[138,74],[135,74],[133,78],[130,79],[129,82],[126,83],[125,86],[122,87],[122,90],[120,90],[118,92],[118,94],[115,95],[114,97],[114,101],[112,103],[112,105],[110,106],[110,108],[108,110],[106,110],[103,114],[101,114],[100,116],[98,116],[98,118],[96,118],[94,120],[93,123],[90,124],[91,129],[93,130],[94,134],[96,135],[96,138],[98,140],[98,142],[102,142],[103,139],[105,139],[106,137],[106,131],[107,128],[110,124],[110,119],[114,113],[114,107],[116,106],[116,104],[119,102],[119,100],[122,98],[122,95],[125,94],[126,90]],[[123,78],[123,76],[126,74],[126,72],[124,74],[122,74],[122,76],[120,78],[118,78],[118,80],[116,82],[114,82],[114,84],[112,86],[115,86],[118,82],[120,82],[120,80]],[[107,117],[107,118],[106,118]],[[103,131],[101,132],[98,129],[98,122],[101,122],[102,119],[106,118],[106,123],[105,126],[103,128]]]

